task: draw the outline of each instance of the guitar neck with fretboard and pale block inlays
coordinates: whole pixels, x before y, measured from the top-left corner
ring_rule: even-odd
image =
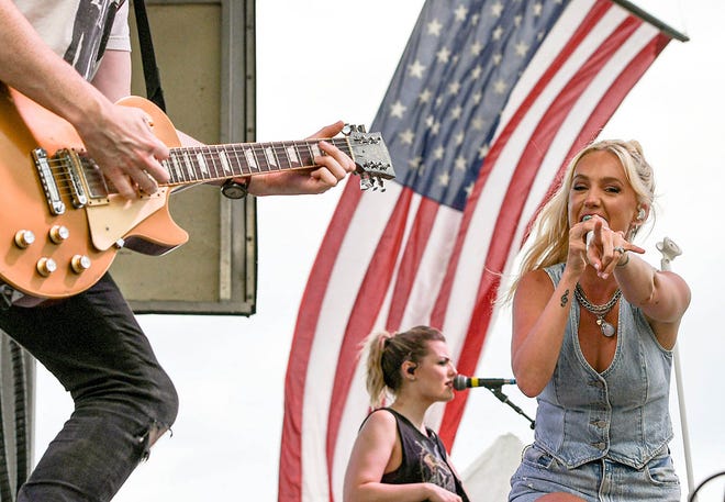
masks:
[[[321,140],[275,143],[236,143],[171,148],[164,166],[169,186],[191,185],[227,178],[255,176],[292,169],[314,168],[314,158],[325,155]],[[352,156],[347,138],[325,138]]]

